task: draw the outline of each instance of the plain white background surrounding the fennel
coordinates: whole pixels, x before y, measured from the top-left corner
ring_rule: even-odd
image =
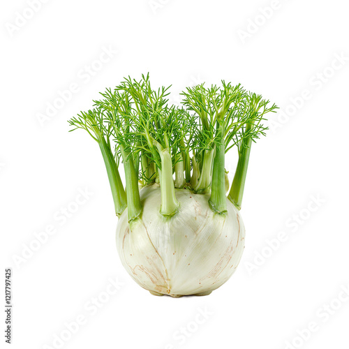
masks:
[[[349,287],[348,3],[49,0],[34,15],[28,8],[16,0],[0,9],[1,273],[13,268],[13,348],[58,348],[55,336],[68,339],[64,324],[78,316],[84,325],[62,348],[349,348],[341,293]],[[98,64],[103,47],[117,53]],[[99,91],[148,71],[154,87],[173,84],[175,102],[188,85],[224,79],[281,107],[251,151],[242,262],[208,297],[154,297],[131,280],[115,247],[99,149],[83,131],[68,133],[67,120]],[[78,91],[40,123],[71,84]],[[227,161],[232,173],[234,152]],[[85,204],[59,218],[85,188],[93,193]],[[55,234],[29,255],[47,225]],[[268,241],[280,234],[272,251]],[[105,300],[109,278],[123,285],[94,314],[89,302]],[[207,318],[198,317],[205,308]],[[313,332],[304,330],[310,322]]]

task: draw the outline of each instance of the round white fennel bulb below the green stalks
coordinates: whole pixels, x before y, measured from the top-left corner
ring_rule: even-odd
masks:
[[[228,214],[214,214],[209,195],[176,189],[179,210],[160,214],[158,184],[140,191],[142,219],[117,225],[117,249],[128,274],[154,295],[207,295],[235,272],[244,251],[245,228],[227,199]]]

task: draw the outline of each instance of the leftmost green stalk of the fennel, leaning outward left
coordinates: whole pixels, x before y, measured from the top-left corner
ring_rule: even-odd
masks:
[[[120,216],[127,206],[126,193],[122,184],[117,163],[104,137],[98,139],[99,147],[101,148],[105,168],[107,169],[107,176],[112,189],[112,198],[114,200],[115,213]]]

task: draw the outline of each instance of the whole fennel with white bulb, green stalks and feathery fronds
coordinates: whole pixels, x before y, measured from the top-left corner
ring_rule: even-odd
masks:
[[[169,105],[168,95],[169,87],[152,89],[149,74],[128,77],[69,123],[101,148],[128,273],[156,295],[206,295],[242,256],[239,209],[251,144],[265,135],[262,122],[276,105],[224,81],[187,88],[183,107]],[[225,154],[234,148],[239,160],[229,190]]]

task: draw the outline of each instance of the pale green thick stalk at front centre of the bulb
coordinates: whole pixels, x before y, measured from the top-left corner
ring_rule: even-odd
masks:
[[[174,192],[174,182],[172,177],[172,159],[170,151],[154,141],[161,158],[161,170],[158,169],[161,186],[161,210],[163,216],[173,216],[179,207],[176,194]]]

